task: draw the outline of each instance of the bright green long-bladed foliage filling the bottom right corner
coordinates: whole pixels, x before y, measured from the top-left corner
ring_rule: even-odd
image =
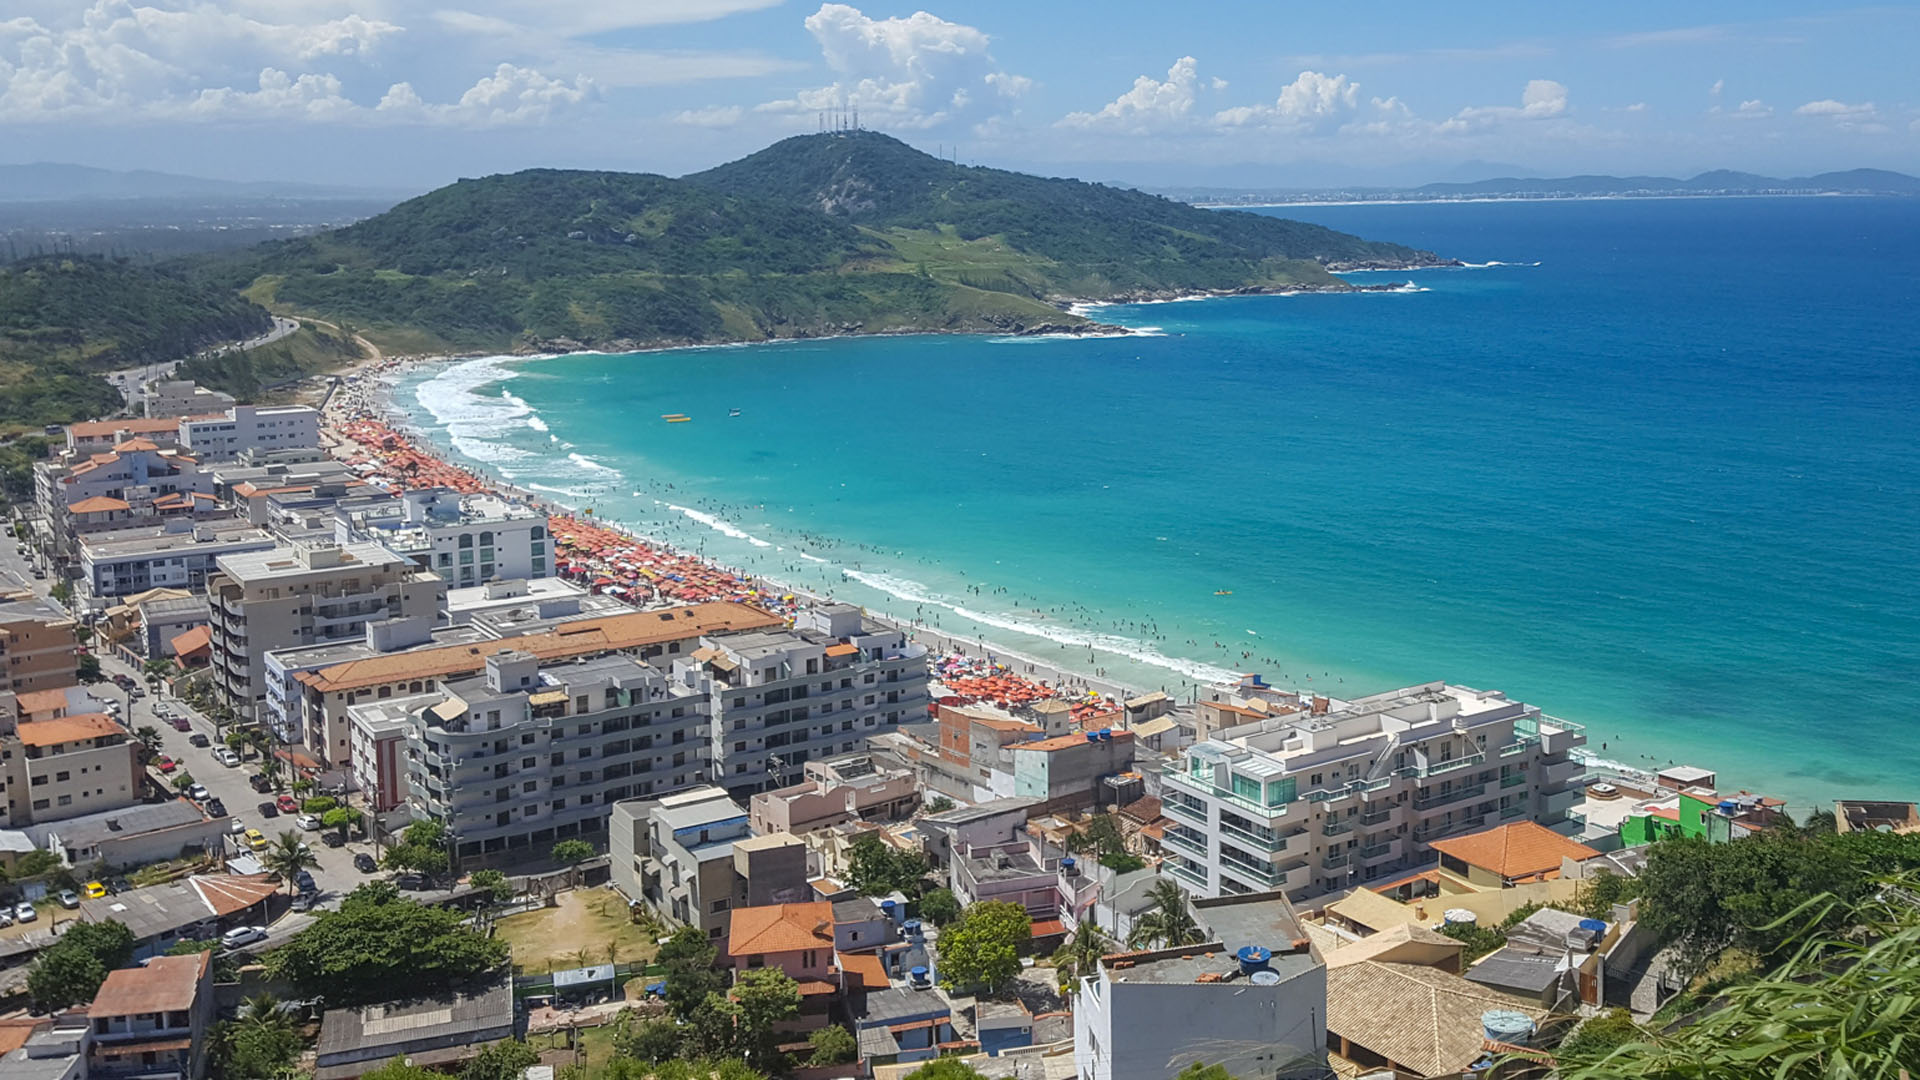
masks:
[[[1726,990],[1667,1034],[1580,1034],[1563,1080],[1897,1080],[1920,1047],[1920,878],[1862,882],[1862,899],[1811,897],[1772,930],[1791,942],[1768,974]],[[1837,928],[1837,930],[1836,930]],[[1594,1026],[1597,1020],[1590,1020]],[[1624,1042],[1615,1042],[1624,1040]]]

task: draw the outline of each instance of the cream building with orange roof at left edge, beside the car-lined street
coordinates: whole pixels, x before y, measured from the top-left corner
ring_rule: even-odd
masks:
[[[113,717],[27,721],[0,736],[0,782],[12,828],[140,801],[138,744]]]

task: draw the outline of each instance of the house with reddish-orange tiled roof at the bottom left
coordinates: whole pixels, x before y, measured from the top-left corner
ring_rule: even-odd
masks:
[[[213,955],[109,970],[86,1007],[90,1078],[202,1080],[213,1022]]]

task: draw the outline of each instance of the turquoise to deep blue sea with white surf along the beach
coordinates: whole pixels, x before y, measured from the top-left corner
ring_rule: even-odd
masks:
[[[1797,811],[1920,796],[1920,200],[1271,213],[1498,265],[396,398],[563,503],[1137,686],[1446,678]]]

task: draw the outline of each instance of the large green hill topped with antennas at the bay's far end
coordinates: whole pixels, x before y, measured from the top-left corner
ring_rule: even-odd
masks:
[[[200,281],[390,352],[1085,327],[1073,298],[1344,288],[1432,259],[1296,221],[954,167],[874,133],[684,179],[530,169],[357,225],[200,256]]]

